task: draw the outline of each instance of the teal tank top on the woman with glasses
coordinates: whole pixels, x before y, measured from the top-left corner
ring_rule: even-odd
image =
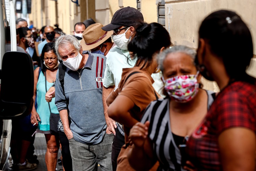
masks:
[[[49,83],[46,81],[47,90],[53,85],[53,83]],[[36,85],[36,102],[37,102],[37,113],[40,116],[41,121],[38,122],[38,129],[42,131],[49,131],[50,130],[50,109],[48,102],[45,100],[45,76],[43,72],[40,72],[38,82]],[[52,113],[59,114],[57,107],[55,105],[55,98],[52,98],[50,102],[50,108]]]

